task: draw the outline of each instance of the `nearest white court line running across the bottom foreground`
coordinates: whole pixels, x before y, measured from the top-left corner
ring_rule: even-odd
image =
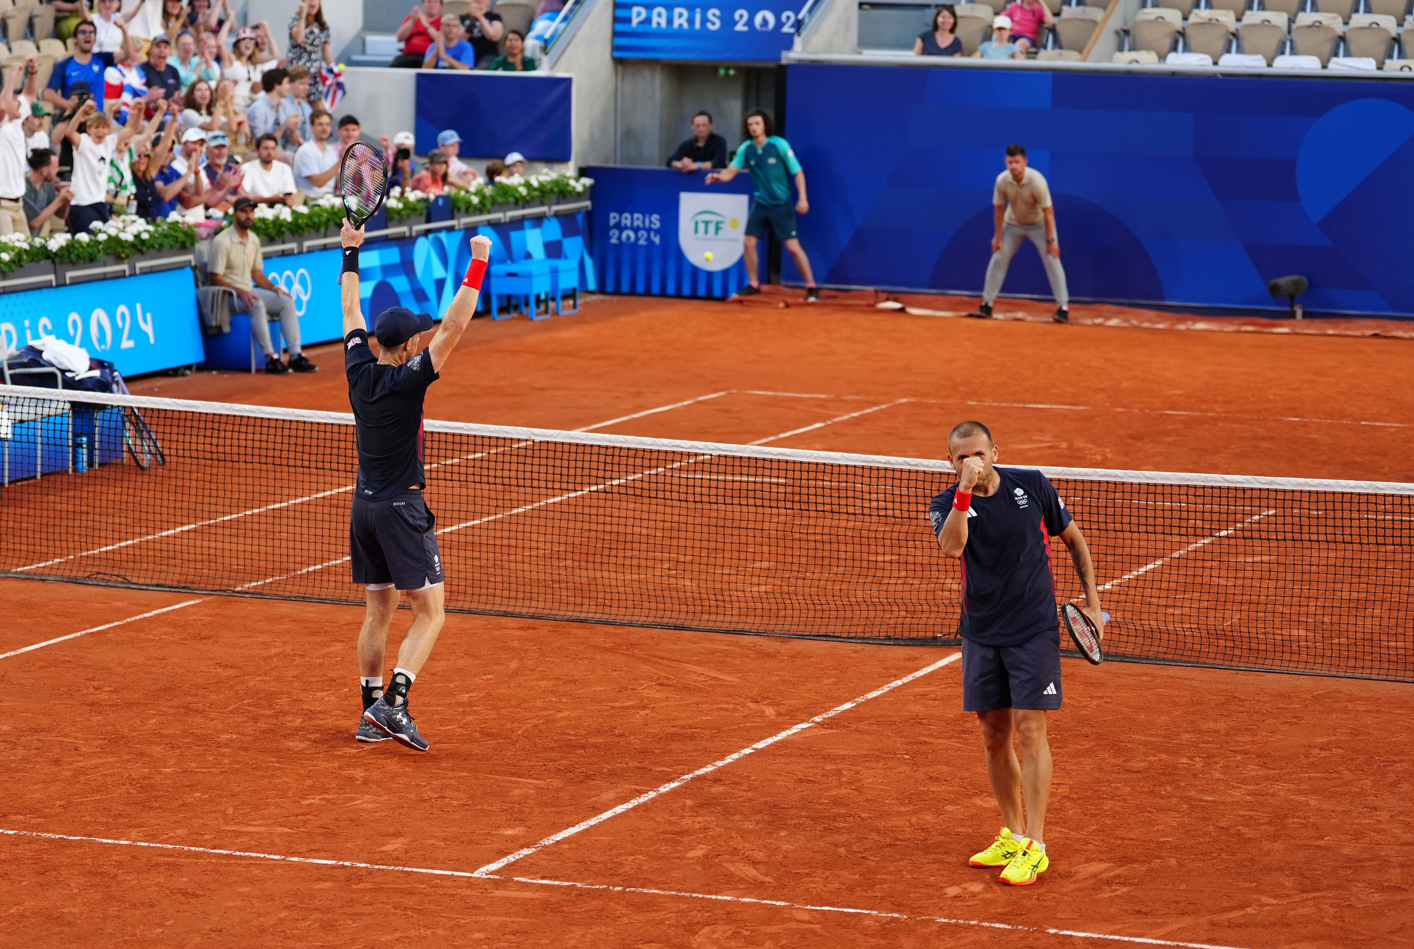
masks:
[[[221,850],[216,847],[188,847],[177,843],[151,843],[147,840],[117,840],[113,837],[83,837],[66,833],[41,833],[38,830],[7,830],[0,827],[0,834],[11,837],[37,837],[40,840],[72,840],[78,843],[109,843],[122,847],[150,847],[153,850],[177,850],[181,853],[202,853],[214,857],[249,857],[255,860],[277,860],[280,863],[304,863],[318,867],[348,867],[349,870],[390,870],[393,873],[423,873],[433,877],[461,877],[464,880],[496,880],[534,884],[542,887],[564,887],[570,890],[602,890],[607,892],[636,892],[650,897],[682,897],[689,899],[714,899],[720,902],[744,902],[761,907],[781,907],[783,909],[813,909],[816,912],[844,912],[851,915],[870,916],[875,919],[908,919],[912,922],[940,922],[954,926],[980,926],[987,929],[1005,929],[1011,932],[1032,932],[1051,936],[1072,936],[1076,939],[1106,939],[1113,942],[1137,942],[1147,946],[1181,946],[1182,949],[1239,949],[1237,946],[1219,946],[1208,942],[1176,942],[1171,939],[1148,939],[1144,936],[1116,936],[1104,932],[1080,932],[1076,929],[1042,929],[1041,926],[1021,926],[1010,922],[986,922],[981,919],[949,919],[946,916],[923,916],[904,912],[884,912],[880,909],[855,909],[851,907],[824,907],[803,902],[786,902],[783,899],[755,899],[752,897],[721,897],[706,892],[686,892],[680,890],[653,890],[649,887],[615,887],[609,884],[568,883],[566,880],[540,880],[536,877],[496,877],[465,870],[434,870],[430,867],[397,867],[380,863],[358,863],[354,860],[321,860],[318,857],[287,857],[277,853],[257,853],[253,850]]]

